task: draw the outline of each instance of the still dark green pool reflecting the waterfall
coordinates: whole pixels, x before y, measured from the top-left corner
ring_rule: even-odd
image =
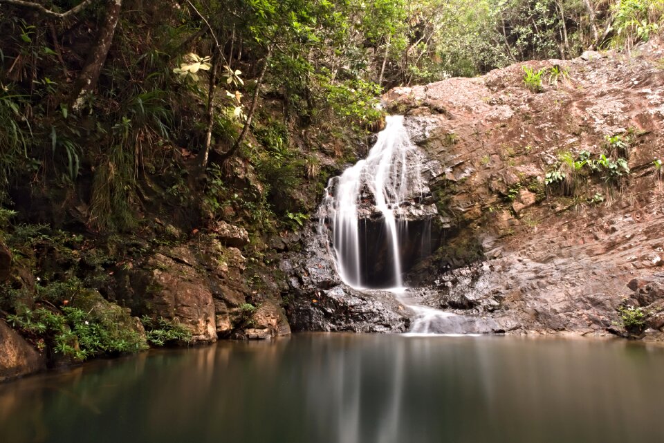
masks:
[[[0,385],[0,441],[664,442],[664,349],[299,334]]]

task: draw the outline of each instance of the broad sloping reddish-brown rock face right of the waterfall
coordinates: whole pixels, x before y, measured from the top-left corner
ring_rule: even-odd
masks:
[[[431,286],[423,303],[513,332],[605,334],[620,322],[624,297],[640,306],[661,299],[660,283],[626,288],[661,270],[664,256],[664,186],[653,164],[664,158],[664,71],[656,68],[664,53],[640,49],[636,58],[528,62],[385,96],[407,115],[432,169],[443,169],[430,187],[449,221],[445,241],[409,279]],[[522,65],[558,65],[568,75],[531,93]],[[628,144],[627,178],[611,185],[584,170],[572,191],[544,185],[560,153],[609,155],[614,135]]]

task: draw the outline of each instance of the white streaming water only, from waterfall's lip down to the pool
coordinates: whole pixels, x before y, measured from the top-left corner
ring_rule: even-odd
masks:
[[[405,129],[403,116],[387,117],[387,125],[378,134],[367,158],[330,180],[320,207],[319,231],[322,234],[329,232],[326,227],[329,220],[331,253],[342,281],[357,290],[369,289],[366,276],[362,275],[360,219],[371,216],[372,208],[375,208],[382,216],[389,241],[387,259],[391,261],[394,273],[394,288],[388,291],[415,314],[409,334],[457,332],[454,325],[463,319],[462,316],[412,303],[407,299],[408,289],[403,285],[399,233],[400,229],[407,230],[407,221],[403,219],[404,203],[419,201],[427,189],[421,174],[421,161]]]

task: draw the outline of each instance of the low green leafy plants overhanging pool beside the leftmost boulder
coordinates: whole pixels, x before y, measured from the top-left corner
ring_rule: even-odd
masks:
[[[102,354],[122,354],[145,349],[138,332],[118,327],[104,315],[78,308],[60,311],[23,309],[7,316],[8,323],[26,335],[38,348],[50,346],[65,357],[85,360]]]

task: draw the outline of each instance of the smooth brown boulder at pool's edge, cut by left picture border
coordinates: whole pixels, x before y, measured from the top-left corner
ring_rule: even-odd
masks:
[[[46,369],[46,357],[0,320],[0,382]]]

